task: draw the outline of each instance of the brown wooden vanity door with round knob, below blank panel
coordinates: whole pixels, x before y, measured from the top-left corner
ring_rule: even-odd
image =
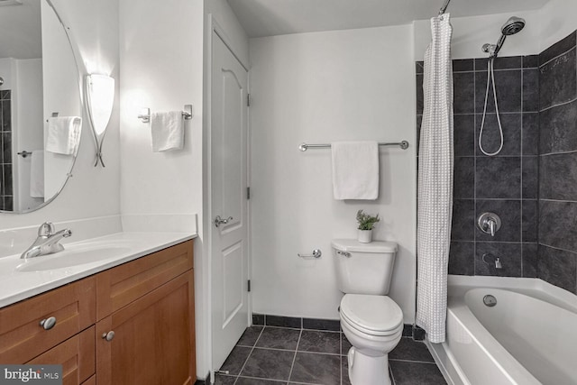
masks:
[[[96,324],[97,384],[195,382],[193,286],[188,270]]]

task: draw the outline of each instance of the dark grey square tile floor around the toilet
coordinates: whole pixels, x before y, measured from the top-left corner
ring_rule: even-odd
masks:
[[[350,347],[341,332],[251,326],[221,368],[228,374],[217,374],[215,383],[349,385]],[[389,371],[394,385],[446,384],[426,345],[409,337],[389,354]]]

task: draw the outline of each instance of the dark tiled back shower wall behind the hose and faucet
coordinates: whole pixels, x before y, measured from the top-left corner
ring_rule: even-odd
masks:
[[[495,60],[495,82],[504,145],[484,155],[478,144],[487,87],[487,60],[453,60],[454,188],[449,273],[536,277],[538,181],[538,57]],[[499,148],[492,87],[483,148]],[[417,62],[417,124],[423,114],[423,67]],[[476,226],[484,212],[502,220],[495,237]],[[500,258],[502,269],[482,261]],[[490,258],[488,259],[490,260]]]

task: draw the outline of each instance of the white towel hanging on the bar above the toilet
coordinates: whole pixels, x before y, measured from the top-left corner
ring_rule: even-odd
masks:
[[[379,143],[334,142],[334,199],[367,199],[379,197]]]

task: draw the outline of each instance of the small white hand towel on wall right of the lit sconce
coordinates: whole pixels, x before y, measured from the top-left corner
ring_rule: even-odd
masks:
[[[182,111],[151,114],[152,151],[182,150],[184,147]]]

